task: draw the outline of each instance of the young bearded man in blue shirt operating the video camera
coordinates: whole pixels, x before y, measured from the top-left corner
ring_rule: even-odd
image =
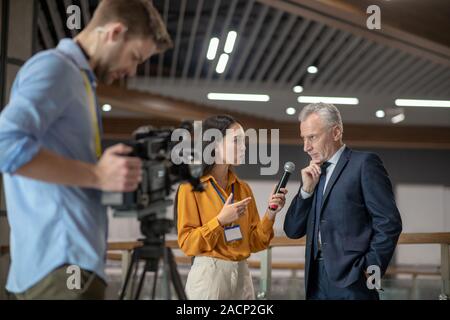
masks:
[[[141,161],[123,144],[102,154],[95,88],[133,76],[171,47],[149,0],[103,0],[75,39],[19,71],[0,114],[0,172],[11,227],[7,290],[19,299],[102,299],[106,208],[101,191],[130,192]],[[81,287],[68,285],[68,267]]]

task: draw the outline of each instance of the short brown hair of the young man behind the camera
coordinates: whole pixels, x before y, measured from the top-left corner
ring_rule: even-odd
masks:
[[[121,22],[131,37],[150,37],[158,52],[173,46],[172,39],[151,0],[102,0],[89,23],[89,28]]]

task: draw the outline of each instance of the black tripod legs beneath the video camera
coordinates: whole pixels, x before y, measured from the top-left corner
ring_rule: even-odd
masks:
[[[164,272],[166,276],[169,278],[167,288],[168,299],[170,299],[170,282],[171,282],[173,284],[173,287],[175,288],[175,292],[177,294],[178,299],[187,300],[187,296],[186,293],[184,292],[183,284],[181,282],[181,277],[177,270],[175,257],[173,255],[172,250],[165,246],[164,235],[160,236],[159,238],[153,239],[146,238],[143,239],[143,242],[144,245],[142,247],[136,248],[133,251],[131,263],[127,270],[125,282],[120,292],[120,300],[123,300],[125,297],[131,277],[135,279],[139,269],[139,262],[141,260],[145,261],[145,265],[140,275],[137,290],[134,293],[134,299],[135,300],[139,299],[144,284],[145,276],[147,274],[147,271],[150,271],[154,273],[153,288],[152,288],[152,300],[154,300],[156,295],[156,284],[158,279],[158,266],[159,261],[161,259],[163,260],[164,263]]]

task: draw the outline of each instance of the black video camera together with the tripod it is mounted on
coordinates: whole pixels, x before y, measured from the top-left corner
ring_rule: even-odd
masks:
[[[183,122],[180,129],[185,129],[183,132],[191,134],[192,123]],[[200,182],[203,166],[201,160],[196,162],[199,158],[194,148],[182,148],[181,154],[177,154],[178,149],[175,147],[178,142],[172,141],[173,131],[172,128],[156,129],[151,126],[136,130],[133,133],[133,140],[125,144],[133,149],[129,156],[142,160],[141,183],[134,192],[105,192],[102,195],[102,203],[113,209],[114,216],[137,217],[144,235],[143,239],[139,239],[143,243],[142,246],[133,250],[120,299],[124,299],[129,282],[135,278],[140,260],[146,263],[135,299],[140,296],[148,271],[154,273],[152,297],[155,298],[160,260],[164,262],[164,270],[168,279],[172,281],[178,298],[187,299],[173,252],[165,245],[165,234],[174,225],[173,220],[166,218],[166,209],[173,203],[168,196],[176,183],[189,182],[193,191],[203,191]]]

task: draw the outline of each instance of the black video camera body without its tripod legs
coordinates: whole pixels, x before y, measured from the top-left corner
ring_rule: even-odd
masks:
[[[189,122],[182,123],[180,128],[188,131],[192,129]],[[169,232],[172,227],[173,221],[164,217],[167,207],[173,204],[168,196],[172,193],[174,184],[189,182],[193,191],[203,191],[200,183],[201,164],[193,164],[193,161],[175,164],[172,161],[172,149],[176,143],[171,141],[172,132],[173,128],[156,129],[152,126],[136,130],[133,140],[125,144],[133,148],[129,156],[142,160],[142,182],[134,192],[102,194],[102,204],[112,208],[114,216],[137,217],[141,221],[141,231],[146,237],[158,237]],[[193,149],[187,150],[187,153],[187,160],[194,159]],[[186,160],[186,154],[183,157]]]

